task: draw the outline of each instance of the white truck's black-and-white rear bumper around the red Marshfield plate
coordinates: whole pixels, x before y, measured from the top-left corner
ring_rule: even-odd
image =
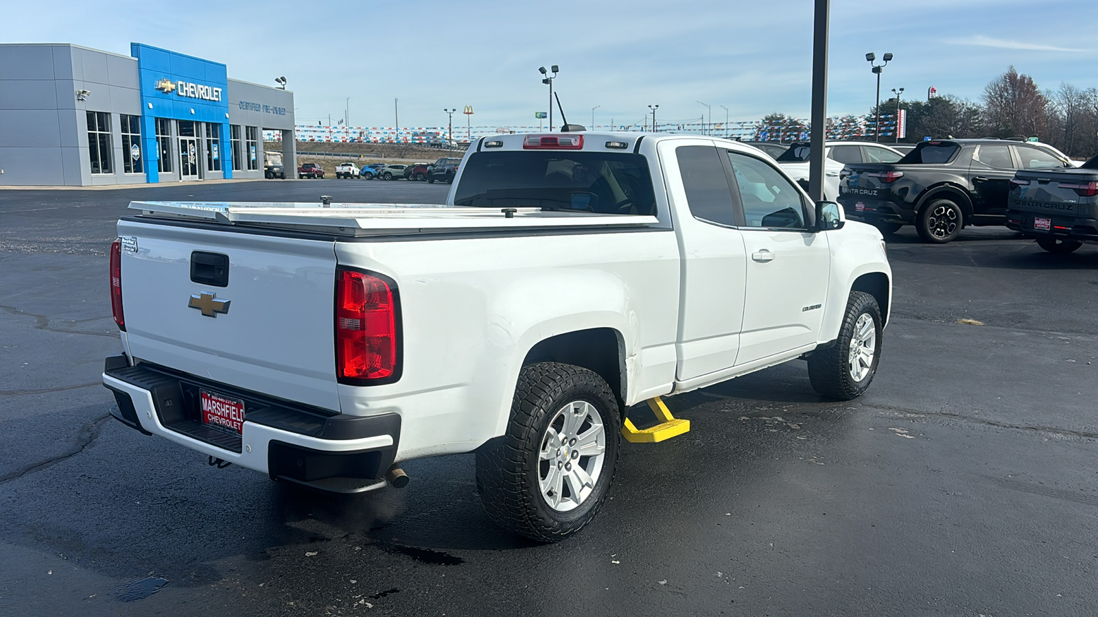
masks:
[[[204,455],[285,480],[337,492],[383,485],[395,459],[401,416],[330,415],[261,394],[148,364],[107,359],[103,385],[114,393],[112,415],[145,435],[158,435]],[[239,435],[200,420],[198,389],[245,403]]]

